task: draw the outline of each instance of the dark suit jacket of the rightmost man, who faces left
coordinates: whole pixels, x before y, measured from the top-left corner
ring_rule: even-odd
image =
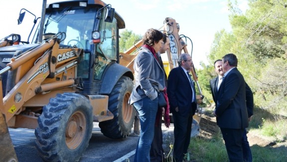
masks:
[[[244,77],[237,68],[232,69],[223,79],[215,108],[219,127],[230,129],[248,127],[245,85]]]

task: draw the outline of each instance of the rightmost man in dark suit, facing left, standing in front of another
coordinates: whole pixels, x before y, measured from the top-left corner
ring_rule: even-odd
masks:
[[[244,162],[242,137],[248,127],[246,107],[246,83],[237,69],[235,54],[226,54],[222,58],[225,72],[216,97],[214,115],[220,127],[230,162]]]

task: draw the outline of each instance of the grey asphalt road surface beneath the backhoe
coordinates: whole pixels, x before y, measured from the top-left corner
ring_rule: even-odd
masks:
[[[163,124],[162,131],[164,134],[172,132],[173,125],[166,128]],[[35,147],[34,129],[9,128],[9,132],[19,162],[43,162]],[[101,133],[98,123],[94,122],[89,146],[80,162],[133,162],[139,137],[131,134],[122,140],[110,139]]]

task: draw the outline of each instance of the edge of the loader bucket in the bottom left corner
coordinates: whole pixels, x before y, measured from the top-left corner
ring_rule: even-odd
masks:
[[[1,162],[18,162],[8,131],[6,120],[0,112],[0,157]]]

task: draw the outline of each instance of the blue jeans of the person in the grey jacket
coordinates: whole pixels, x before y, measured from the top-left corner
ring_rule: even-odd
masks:
[[[150,146],[154,135],[155,116],[158,99],[150,100],[148,97],[135,102],[134,107],[139,112],[141,122],[140,139],[135,154],[134,162],[150,162]]]

